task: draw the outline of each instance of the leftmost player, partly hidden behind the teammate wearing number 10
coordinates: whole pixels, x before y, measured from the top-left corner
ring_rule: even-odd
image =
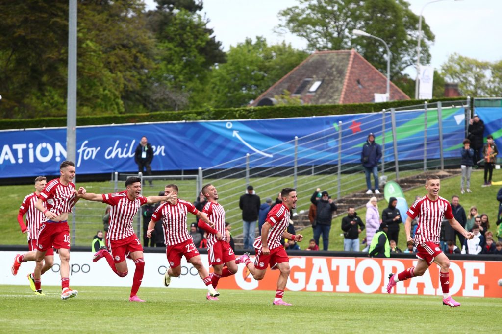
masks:
[[[30,251],[33,251],[33,253],[36,253],[35,250],[37,249],[38,231],[42,226],[42,220],[45,218],[44,214],[35,208],[35,204],[37,203],[38,196],[45,189],[46,184],[47,179],[45,177],[37,177],[35,179],[35,192],[27,195],[23,200],[21,207],[19,208],[18,223],[21,227],[21,232],[28,233],[28,249]],[[47,209],[45,202],[43,202],[43,206],[45,209]],[[26,215],[26,225],[23,222],[24,215]],[[36,270],[40,270],[41,275],[43,275],[44,272],[52,268],[53,264],[54,250],[51,248],[48,249],[45,253],[43,261],[35,262],[35,267],[40,267]],[[14,275],[16,275],[17,273],[17,270],[16,272],[13,271]],[[42,293],[41,289],[37,290],[35,288],[35,279],[33,278],[33,273],[28,274],[28,280],[30,281],[30,288],[33,290],[33,292],[35,292],[35,295],[45,295],[44,293]]]

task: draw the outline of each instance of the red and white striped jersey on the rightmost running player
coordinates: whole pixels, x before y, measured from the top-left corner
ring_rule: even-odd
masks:
[[[411,219],[418,217],[418,227],[415,233],[416,245],[425,242],[439,244],[443,217],[453,218],[450,203],[439,196],[436,201],[431,201],[427,196],[422,197],[408,209],[407,214]]]

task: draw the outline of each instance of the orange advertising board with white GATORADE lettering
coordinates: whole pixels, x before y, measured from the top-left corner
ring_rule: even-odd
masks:
[[[502,297],[502,261],[450,261],[450,293],[464,297]],[[286,285],[290,291],[387,293],[390,273],[415,266],[417,259],[363,257],[290,257],[291,273]],[[278,270],[268,269],[257,281],[244,277],[246,268],[238,265],[235,275],[218,282],[218,288],[242,290],[275,290]],[[439,267],[432,264],[423,276],[398,282],[392,293],[442,295]]]

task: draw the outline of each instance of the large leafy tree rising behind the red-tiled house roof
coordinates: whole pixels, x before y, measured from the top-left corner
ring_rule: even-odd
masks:
[[[299,5],[279,13],[286,29],[303,37],[309,50],[354,48],[382,73],[387,72],[386,49],[372,38],[352,38],[352,30],[380,37],[391,51],[391,77],[416,63],[418,19],[405,0],[299,0]],[[422,23],[421,63],[430,61],[428,44],[434,41]]]

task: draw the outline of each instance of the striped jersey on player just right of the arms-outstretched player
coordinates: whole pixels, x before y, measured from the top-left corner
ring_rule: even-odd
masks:
[[[166,246],[173,246],[189,239],[193,239],[187,229],[187,214],[196,215],[199,211],[190,202],[178,199],[175,205],[162,203],[152,215],[152,220],[158,222],[162,219],[164,240]]]

